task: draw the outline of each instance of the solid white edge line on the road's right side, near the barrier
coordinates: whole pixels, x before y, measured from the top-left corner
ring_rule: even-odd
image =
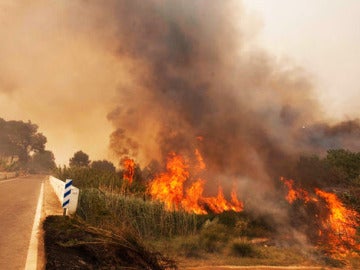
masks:
[[[31,231],[30,245],[29,245],[28,254],[26,257],[25,270],[36,270],[36,268],[37,268],[38,237],[39,237],[39,225],[40,225],[40,218],[41,218],[43,193],[44,193],[44,182],[42,181],[38,204],[36,207],[34,225],[33,225],[32,231]]]

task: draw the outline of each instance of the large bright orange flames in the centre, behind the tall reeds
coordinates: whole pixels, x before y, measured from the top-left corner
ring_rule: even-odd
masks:
[[[193,166],[193,170],[205,170],[206,164],[198,149],[195,150],[195,157],[198,164]],[[168,156],[166,172],[159,174],[150,183],[149,193],[153,199],[164,202],[168,210],[183,209],[195,214],[243,210],[243,203],[238,200],[235,189],[231,192],[231,201],[227,201],[220,185],[216,197],[204,196],[205,184],[204,179],[194,180],[190,175],[189,164],[181,155],[173,152]]]

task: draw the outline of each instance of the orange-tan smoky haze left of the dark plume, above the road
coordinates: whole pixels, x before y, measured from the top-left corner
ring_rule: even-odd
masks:
[[[38,124],[60,164],[80,149],[106,157],[106,114],[126,81],[118,59],[81,26],[90,19],[82,4],[70,2],[0,3],[0,117]]]

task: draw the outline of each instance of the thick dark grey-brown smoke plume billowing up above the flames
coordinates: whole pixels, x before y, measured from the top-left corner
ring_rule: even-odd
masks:
[[[199,148],[213,178],[266,186],[300,153],[359,150],[358,121],[324,123],[303,71],[247,48],[233,1],[110,2],[105,25],[134,78],[109,114],[118,154],[164,161]]]

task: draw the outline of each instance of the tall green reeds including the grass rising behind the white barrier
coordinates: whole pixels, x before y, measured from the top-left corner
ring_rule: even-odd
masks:
[[[133,228],[143,237],[171,237],[195,233],[197,216],[183,211],[166,211],[160,202],[146,200],[144,183],[134,181],[124,190],[122,173],[86,167],[59,167],[60,179],[73,179],[80,188],[77,214],[85,221],[107,229]]]

